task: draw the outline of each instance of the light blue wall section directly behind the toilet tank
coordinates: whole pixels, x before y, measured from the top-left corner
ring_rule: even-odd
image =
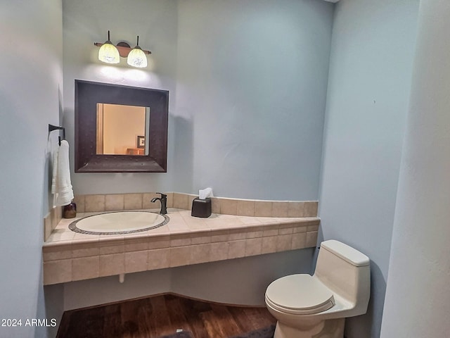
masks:
[[[341,0],[335,8],[324,127],[321,231],[371,258],[368,314],[348,338],[379,337],[418,0]]]

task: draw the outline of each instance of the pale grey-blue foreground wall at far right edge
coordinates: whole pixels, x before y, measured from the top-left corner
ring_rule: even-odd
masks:
[[[450,337],[449,16],[450,1],[420,1],[383,338]]]

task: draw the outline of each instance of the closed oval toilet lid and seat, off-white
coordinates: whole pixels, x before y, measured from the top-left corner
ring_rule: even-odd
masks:
[[[289,275],[269,284],[266,303],[272,308],[294,315],[320,313],[335,305],[333,292],[316,277]]]

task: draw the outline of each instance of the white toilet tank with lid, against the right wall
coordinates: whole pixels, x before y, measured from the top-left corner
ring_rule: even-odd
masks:
[[[334,239],[322,242],[314,276],[365,313],[371,291],[369,258]],[[355,314],[356,315],[356,314]]]

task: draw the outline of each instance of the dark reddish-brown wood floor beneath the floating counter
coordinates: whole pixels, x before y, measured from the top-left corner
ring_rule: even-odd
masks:
[[[275,324],[266,308],[224,306],[173,294],[66,311],[57,338],[158,338],[176,329],[226,338]]]

